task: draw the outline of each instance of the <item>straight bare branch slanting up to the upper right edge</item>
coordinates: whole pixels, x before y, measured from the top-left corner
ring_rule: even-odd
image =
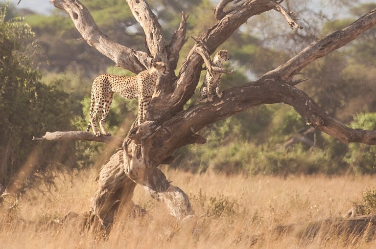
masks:
[[[335,31],[327,37],[308,45],[285,64],[264,74],[262,78],[278,77],[284,81],[290,81],[294,74],[305,68],[309,63],[346,45],[375,24],[376,9],[370,11],[346,28]]]

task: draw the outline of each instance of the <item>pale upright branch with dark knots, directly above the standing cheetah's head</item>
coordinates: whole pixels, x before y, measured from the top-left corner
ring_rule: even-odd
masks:
[[[167,53],[161,24],[145,0],[127,0],[132,14],[140,23],[146,36],[146,43],[151,56],[167,63]]]

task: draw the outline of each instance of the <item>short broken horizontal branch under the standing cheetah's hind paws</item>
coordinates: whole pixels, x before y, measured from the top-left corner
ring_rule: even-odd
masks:
[[[70,132],[46,132],[45,136],[35,137],[33,140],[50,140],[50,141],[94,141],[94,142],[103,142],[103,143],[114,143],[119,146],[124,141],[123,138],[118,136],[95,136],[91,132],[85,131],[70,131]]]

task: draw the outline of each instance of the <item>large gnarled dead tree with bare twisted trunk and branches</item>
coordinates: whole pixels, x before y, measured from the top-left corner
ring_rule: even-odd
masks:
[[[282,0],[220,0],[214,10],[217,22],[196,38],[196,44],[180,65],[178,75],[174,74],[174,69],[177,68],[180,50],[187,41],[185,13],[182,12],[180,26],[167,43],[162,35],[162,26],[147,2],[127,0],[145,33],[147,52],[143,52],[110,40],[99,30],[89,11],[78,0],[51,2],[57,8],[66,10],[83,39],[117,66],[138,73],[150,68],[153,60],[160,60],[171,69],[169,75],[161,77],[157,82],[146,117],[149,121],[140,127],[134,125],[124,139],[122,149],[102,167],[98,189],[91,202],[91,212],[104,226],[113,222],[121,195],[125,193],[122,203],[131,202],[136,184],[141,185],[153,198],[163,201],[170,213],[178,219],[191,214],[188,196],[170,184],[158,166],[171,162],[171,155],[177,148],[204,143],[205,138],[197,135],[197,132],[208,124],[251,107],[283,102],[291,105],[307,124],[341,142],[376,144],[375,131],[354,130],[344,126],[325,113],[304,91],[297,89],[295,85],[302,80],[294,79],[294,75],[312,61],[346,45],[374,26],[376,9],[348,27],[308,45],[286,63],[265,72],[257,81],[224,91],[223,97],[216,98],[212,103],[196,104],[184,110],[184,104],[196,89],[204,61],[209,68],[209,55],[249,18],[276,10],[285,17],[291,28],[301,28],[282,7]],[[82,136],[76,139],[82,139]]]

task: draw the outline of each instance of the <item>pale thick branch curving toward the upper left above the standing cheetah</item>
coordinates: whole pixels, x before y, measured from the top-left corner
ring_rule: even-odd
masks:
[[[151,57],[145,52],[119,45],[103,34],[89,11],[78,0],[51,0],[59,9],[66,10],[84,40],[118,66],[138,73],[151,65]]]

